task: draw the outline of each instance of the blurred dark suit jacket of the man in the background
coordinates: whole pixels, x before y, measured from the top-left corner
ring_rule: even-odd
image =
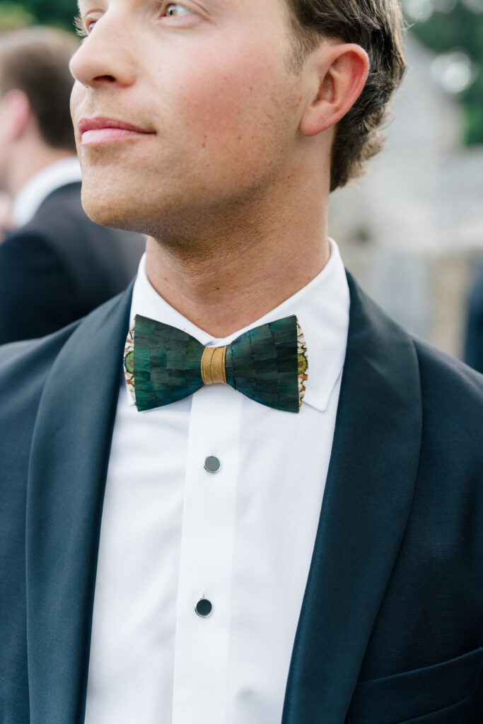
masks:
[[[56,189],[0,244],[0,344],[65,327],[135,275],[145,237],[91,222],[80,186]]]

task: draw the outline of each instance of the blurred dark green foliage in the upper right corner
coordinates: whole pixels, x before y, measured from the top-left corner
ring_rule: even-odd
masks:
[[[465,114],[466,143],[483,143],[483,13],[458,2],[450,12],[436,11],[428,20],[416,22],[411,31],[437,53],[463,50],[476,66],[476,78],[463,90],[460,100]]]

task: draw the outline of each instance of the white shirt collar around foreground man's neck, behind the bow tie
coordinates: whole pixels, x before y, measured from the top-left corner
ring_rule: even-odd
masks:
[[[303,404],[323,412],[343,370],[350,307],[349,287],[339,248],[335,241],[329,241],[329,261],[308,285],[260,319],[223,339],[211,337],[208,332],[196,327],[154,290],[146,275],[146,259],[143,256],[133,289],[130,319],[141,314],[182,329],[205,347],[224,347],[248,329],[295,314],[307,344],[308,379]],[[133,404],[129,392],[127,399]]]

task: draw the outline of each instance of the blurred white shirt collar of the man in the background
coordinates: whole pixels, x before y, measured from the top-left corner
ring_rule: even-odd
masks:
[[[53,191],[68,183],[82,180],[77,156],[55,161],[25,182],[14,198],[12,220],[15,227],[28,224],[39,207]]]

